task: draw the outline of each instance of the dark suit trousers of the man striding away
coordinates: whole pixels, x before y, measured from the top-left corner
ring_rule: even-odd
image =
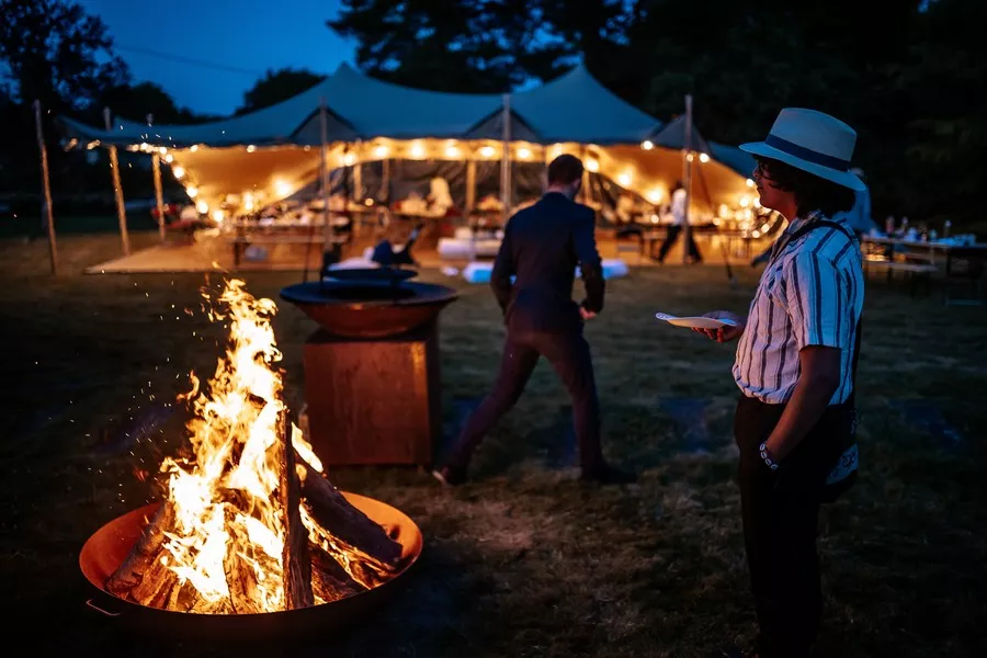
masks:
[[[572,400],[572,420],[583,473],[593,473],[602,466],[600,401],[593,378],[593,362],[589,343],[581,332],[576,331],[508,331],[494,390],[466,421],[450,456],[450,466],[465,469],[469,465],[469,458],[484,436],[521,397],[541,356],[555,368]]]

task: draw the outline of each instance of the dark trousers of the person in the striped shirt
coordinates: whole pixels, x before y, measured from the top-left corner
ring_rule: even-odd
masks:
[[[849,416],[830,407],[778,470],[758,446],[781,418],[783,405],[744,397],[734,417],[740,449],[740,504],[750,585],[762,658],[809,655],[819,631],[822,592],[817,522],[826,477],[841,454]]]

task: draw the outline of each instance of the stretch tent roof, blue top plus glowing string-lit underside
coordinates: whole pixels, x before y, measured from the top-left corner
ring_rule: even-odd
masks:
[[[588,170],[651,203],[667,201],[681,178],[681,146],[648,141],[667,133],[660,122],[611,93],[582,66],[541,87],[499,95],[410,89],[342,65],[295,98],[220,121],[148,126],[116,120],[110,131],[69,118],[61,123],[90,147],[157,151],[201,208],[222,204],[239,212],[319,180],[322,103],[330,170],[393,159],[466,161],[474,163],[475,188],[476,164],[495,171],[508,144],[510,160],[518,163],[545,163],[572,152]],[[746,205],[750,158],[713,143],[693,141],[693,149],[702,156],[703,185],[693,189],[693,204],[710,214],[721,205]],[[475,191],[465,197],[472,207]]]

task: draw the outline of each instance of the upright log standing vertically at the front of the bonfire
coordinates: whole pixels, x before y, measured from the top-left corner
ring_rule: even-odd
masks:
[[[287,610],[307,608],[314,603],[311,593],[311,563],[308,557],[308,532],[302,524],[298,504],[302,485],[295,472],[295,450],[292,447],[292,424],[282,410],[277,422],[279,449],[282,456],[281,478],[277,485],[281,509],[285,515],[284,549],[282,565],[284,574],[284,600]]]

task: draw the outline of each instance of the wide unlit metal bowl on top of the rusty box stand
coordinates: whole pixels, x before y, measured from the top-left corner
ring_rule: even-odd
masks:
[[[329,333],[344,338],[399,336],[435,319],[458,294],[411,281],[314,281],[281,291]]]

